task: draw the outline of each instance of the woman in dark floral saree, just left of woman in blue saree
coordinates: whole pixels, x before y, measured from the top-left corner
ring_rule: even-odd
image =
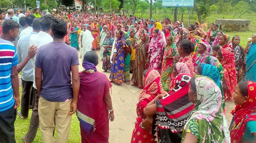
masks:
[[[106,38],[104,39],[103,43],[103,62],[102,62],[102,69],[104,72],[111,71],[111,62],[110,62],[110,56],[112,51],[112,45],[113,45],[114,39],[112,37],[112,32],[107,31]]]

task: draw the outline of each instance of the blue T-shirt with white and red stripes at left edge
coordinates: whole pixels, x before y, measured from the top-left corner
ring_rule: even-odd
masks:
[[[11,72],[17,64],[18,56],[13,43],[0,38],[0,112],[14,105]]]

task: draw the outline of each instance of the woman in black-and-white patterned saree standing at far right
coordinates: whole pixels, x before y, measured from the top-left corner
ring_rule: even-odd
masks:
[[[240,46],[240,37],[238,35],[232,38],[232,45],[235,56],[237,83],[239,83],[245,76],[246,56],[244,48]]]

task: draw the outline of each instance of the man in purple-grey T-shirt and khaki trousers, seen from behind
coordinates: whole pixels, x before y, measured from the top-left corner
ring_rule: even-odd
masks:
[[[40,130],[43,143],[53,142],[55,117],[57,142],[67,143],[80,86],[78,53],[63,41],[67,33],[64,20],[54,19],[51,30],[53,42],[38,49],[35,63],[36,87],[41,96],[38,103]]]

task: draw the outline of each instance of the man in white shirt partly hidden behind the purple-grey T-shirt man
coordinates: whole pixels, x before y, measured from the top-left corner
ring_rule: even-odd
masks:
[[[34,16],[34,15],[33,15]],[[50,42],[53,41],[52,36],[50,35],[51,33],[51,24],[52,24],[52,15],[44,15],[41,19],[40,19],[40,26],[41,26],[41,30],[38,34],[33,34],[30,37],[30,45],[35,45],[38,48],[40,48],[41,46],[48,44]],[[31,115],[31,119],[30,119],[30,125],[29,125],[29,131],[27,132],[27,134],[25,135],[25,137],[23,137],[23,142],[24,143],[31,143],[35,136],[36,136],[36,132],[38,129],[38,125],[39,125],[39,117],[38,117],[38,92],[36,90],[36,84],[35,84],[35,61],[36,61],[36,56],[34,58],[31,59],[32,61],[32,66],[33,66],[33,74],[34,74],[34,84],[33,84],[33,88],[35,91],[35,108],[32,110],[32,115]]]

